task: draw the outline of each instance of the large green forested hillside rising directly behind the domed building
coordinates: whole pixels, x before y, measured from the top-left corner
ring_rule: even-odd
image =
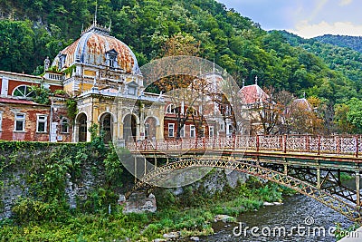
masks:
[[[80,36],[96,9],[95,0],[0,3],[11,19],[0,21],[0,69],[34,74],[43,73],[47,55],[52,59]],[[239,84],[243,79],[250,84],[257,75],[261,86],[297,96],[307,92],[331,103],[359,97],[359,59],[353,60],[354,69],[337,72],[314,51],[292,47],[281,33],[267,33],[214,0],[100,0],[97,20],[105,25],[111,20],[111,34],[129,44],[140,65],[159,57],[167,39],[181,34],[199,43],[198,55],[224,67]]]

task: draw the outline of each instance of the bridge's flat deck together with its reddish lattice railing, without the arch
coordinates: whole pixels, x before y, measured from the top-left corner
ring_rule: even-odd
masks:
[[[314,168],[362,169],[362,142],[359,136],[320,137],[235,136],[183,140],[141,140],[128,143],[133,153],[149,158],[229,156],[243,160],[288,163]]]

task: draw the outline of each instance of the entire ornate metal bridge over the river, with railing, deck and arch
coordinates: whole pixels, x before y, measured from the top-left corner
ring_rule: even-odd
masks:
[[[142,169],[127,197],[173,170],[234,169],[294,189],[351,220],[362,222],[360,135],[140,140],[129,142],[127,148],[134,154],[134,169]],[[149,163],[152,163],[151,168]],[[353,189],[342,184],[342,172],[355,177]]]

